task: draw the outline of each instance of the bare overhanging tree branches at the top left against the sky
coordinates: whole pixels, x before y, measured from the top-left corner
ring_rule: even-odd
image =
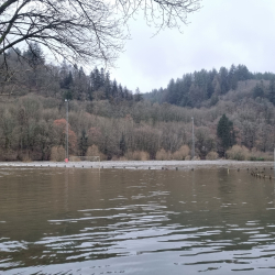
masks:
[[[162,30],[180,28],[199,8],[200,0],[0,0],[0,56],[36,42],[57,59],[111,64],[134,14],[142,11],[148,25]]]

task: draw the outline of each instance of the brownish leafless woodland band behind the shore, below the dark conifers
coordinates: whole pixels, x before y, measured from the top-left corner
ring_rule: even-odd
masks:
[[[194,118],[197,158],[228,157],[232,146],[238,145],[241,153],[250,152],[248,160],[270,160],[275,146],[274,116],[273,103],[264,98],[243,98],[238,103],[223,99],[211,108],[200,109],[147,100],[116,105],[109,100],[70,100],[69,155],[190,160]],[[33,92],[2,99],[0,160],[63,161],[65,118],[62,99]]]

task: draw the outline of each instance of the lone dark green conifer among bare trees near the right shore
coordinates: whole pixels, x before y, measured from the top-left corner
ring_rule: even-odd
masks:
[[[218,151],[221,156],[224,156],[226,151],[234,144],[233,122],[230,121],[226,114],[223,114],[218,122],[217,135],[221,145]]]

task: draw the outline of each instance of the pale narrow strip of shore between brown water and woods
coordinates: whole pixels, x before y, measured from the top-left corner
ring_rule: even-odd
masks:
[[[101,169],[178,169],[195,168],[273,168],[274,162],[239,161],[103,161],[103,162],[0,162],[0,167],[50,167],[50,168],[101,168]]]

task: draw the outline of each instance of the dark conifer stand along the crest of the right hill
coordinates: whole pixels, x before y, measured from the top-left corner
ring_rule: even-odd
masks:
[[[170,79],[167,88],[154,89],[144,95],[144,97],[152,102],[168,102],[190,108],[210,107],[216,105],[219,98],[228,91],[237,90],[239,81],[252,79],[274,81],[275,74],[251,73],[245,65],[232,65],[230,69],[221,67],[219,72],[217,69],[201,69],[191,74],[185,74],[176,80]],[[264,96],[263,89],[258,89],[258,94],[261,92],[261,96]]]

